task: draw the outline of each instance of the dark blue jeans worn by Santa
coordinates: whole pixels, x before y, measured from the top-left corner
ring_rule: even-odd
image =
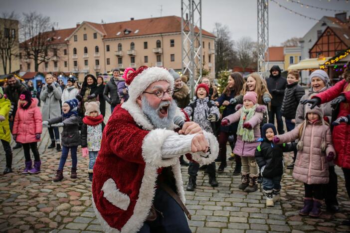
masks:
[[[145,222],[139,233],[190,233],[186,216],[177,202],[163,189],[156,190],[153,205],[157,213],[157,219]]]

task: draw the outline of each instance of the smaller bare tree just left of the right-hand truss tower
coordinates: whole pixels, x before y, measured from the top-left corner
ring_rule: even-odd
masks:
[[[239,65],[243,68],[244,72],[245,68],[253,63],[254,42],[250,37],[245,36],[238,39],[234,47]]]

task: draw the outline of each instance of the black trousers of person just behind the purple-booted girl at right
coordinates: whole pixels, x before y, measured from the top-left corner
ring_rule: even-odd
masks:
[[[325,185],[324,197],[327,206],[338,206],[337,194],[338,194],[338,176],[334,166],[329,166],[330,182]]]

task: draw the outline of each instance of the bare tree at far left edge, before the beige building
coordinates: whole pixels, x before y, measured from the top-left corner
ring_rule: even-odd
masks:
[[[0,58],[4,74],[11,73],[12,58],[18,55],[18,20],[12,11],[2,13],[0,18]]]

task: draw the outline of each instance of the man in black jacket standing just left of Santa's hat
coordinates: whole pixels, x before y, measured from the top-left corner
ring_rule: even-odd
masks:
[[[120,99],[118,96],[118,83],[120,82],[120,70],[118,68],[113,70],[113,77],[106,84],[105,90],[103,92],[103,97],[111,105],[111,114],[114,108],[120,104]],[[108,96],[109,94],[109,96]]]

